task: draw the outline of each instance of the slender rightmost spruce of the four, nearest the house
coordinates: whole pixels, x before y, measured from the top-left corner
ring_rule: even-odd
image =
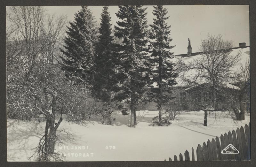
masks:
[[[153,7],[153,15],[156,18],[153,19],[153,24],[150,25],[149,38],[151,40],[148,49],[149,53],[151,53],[151,82],[157,83],[157,87],[152,87],[150,97],[157,103],[159,111],[158,125],[162,126],[163,105],[173,98],[171,96],[171,87],[176,84],[177,73],[174,71],[174,63],[170,60],[173,58],[173,53],[170,52],[170,49],[175,46],[170,45],[172,38],[169,37],[171,26],[166,23],[166,20],[169,19],[169,16],[166,16],[167,9],[162,5]]]

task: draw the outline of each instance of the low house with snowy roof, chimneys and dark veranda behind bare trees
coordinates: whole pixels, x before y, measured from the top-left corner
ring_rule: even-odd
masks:
[[[188,38],[188,52],[186,54],[180,54],[175,55],[176,61],[181,60],[184,62],[184,64],[189,65],[193,61],[198,61],[200,59],[203,59],[203,52],[192,52],[191,47],[191,41]],[[215,51],[215,50],[214,50]],[[239,43],[239,47],[229,48],[225,50],[216,50],[218,52],[229,52],[231,55],[236,55],[237,53],[241,53],[241,60],[239,60],[239,64],[244,65],[245,61],[250,58],[250,46],[246,46],[246,43]],[[238,71],[238,67],[234,67],[232,71]],[[195,106],[193,104],[201,104],[206,105],[209,104],[209,99],[211,99],[211,92],[209,91],[209,84],[203,79],[201,79],[199,82],[200,84],[185,84],[184,78],[193,78],[196,76],[196,71],[189,71],[185,75],[180,74],[180,76],[176,79],[177,80],[177,86],[176,89],[179,91],[179,98],[181,101],[184,101],[187,99],[189,101],[189,104],[187,106],[187,109],[189,110],[196,110]],[[181,79],[183,77],[183,80]],[[224,97],[225,95],[223,92],[229,91],[232,92],[233,95],[237,95],[239,93],[239,90],[241,87],[239,87],[238,83],[231,83],[231,81],[227,81],[224,83],[224,87],[221,88],[220,92],[214,92],[216,94],[216,107],[221,108],[224,105],[227,105],[228,103],[228,97]],[[246,107],[247,112],[250,111],[250,83],[247,84],[246,87],[247,93],[244,94],[243,103]],[[237,105],[239,105],[237,103]],[[186,109],[186,108],[184,108]]]

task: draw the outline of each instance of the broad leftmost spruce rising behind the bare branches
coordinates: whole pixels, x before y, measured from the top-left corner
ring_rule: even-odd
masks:
[[[75,13],[75,20],[69,22],[67,36],[64,39],[62,69],[70,77],[79,78],[78,82],[91,82],[94,66],[94,42],[97,40],[97,29],[92,12],[87,6]]]

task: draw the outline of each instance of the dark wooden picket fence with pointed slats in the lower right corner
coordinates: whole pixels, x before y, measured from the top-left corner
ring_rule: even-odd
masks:
[[[216,136],[215,140],[208,140],[207,144],[204,142],[203,147],[198,144],[196,148],[196,160],[197,161],[243,161],[251,159],[251,124],[249,126],[241,126],[232,133],[229,131],[228,134],[221,134],[220,140]],[[238,151],[239,154],[222,154],[221,151],[226,148],[229,144],[232,144]],[[184,153],[185,161],[195,161],[194,148],[192,147],[192,158],[190,159],[188,150]],[[174,161],[178,161],[178,157],[174,155]],[[184,161],[183,155],[180,153],[179,160]],[[164,160],[166,161],[166,160]],[[169,161],[172,158],[169,157]]]

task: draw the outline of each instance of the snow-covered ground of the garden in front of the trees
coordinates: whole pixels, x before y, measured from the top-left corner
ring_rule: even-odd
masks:
[[[196,153],[198,144],[220,137],[241,125],[248,124],[250,117],[236,124],[225,113],[208,116],[208,126],[203,126],[204,112],[184,112],[168,127],[150,126],[158,111],[137,111],[137,126],[129,128],[129,116],[114,113],[114,126],[91,121],[89,127],[69,124],[65,120],[59,126],[69,131],[74,139],[66,140],[65,133],[59,133],[62,146],[55,146],[56,152],[66,155],[67,161],[163,161],[179,155],[186,149]],[[7,121],[7,161],[28,161],[44,134],[45,122]],[[73,149],[72,149],[73,148]],[[196,155],[196,154],[195,154]],[[32,161],[32,159],[31,159]]]

